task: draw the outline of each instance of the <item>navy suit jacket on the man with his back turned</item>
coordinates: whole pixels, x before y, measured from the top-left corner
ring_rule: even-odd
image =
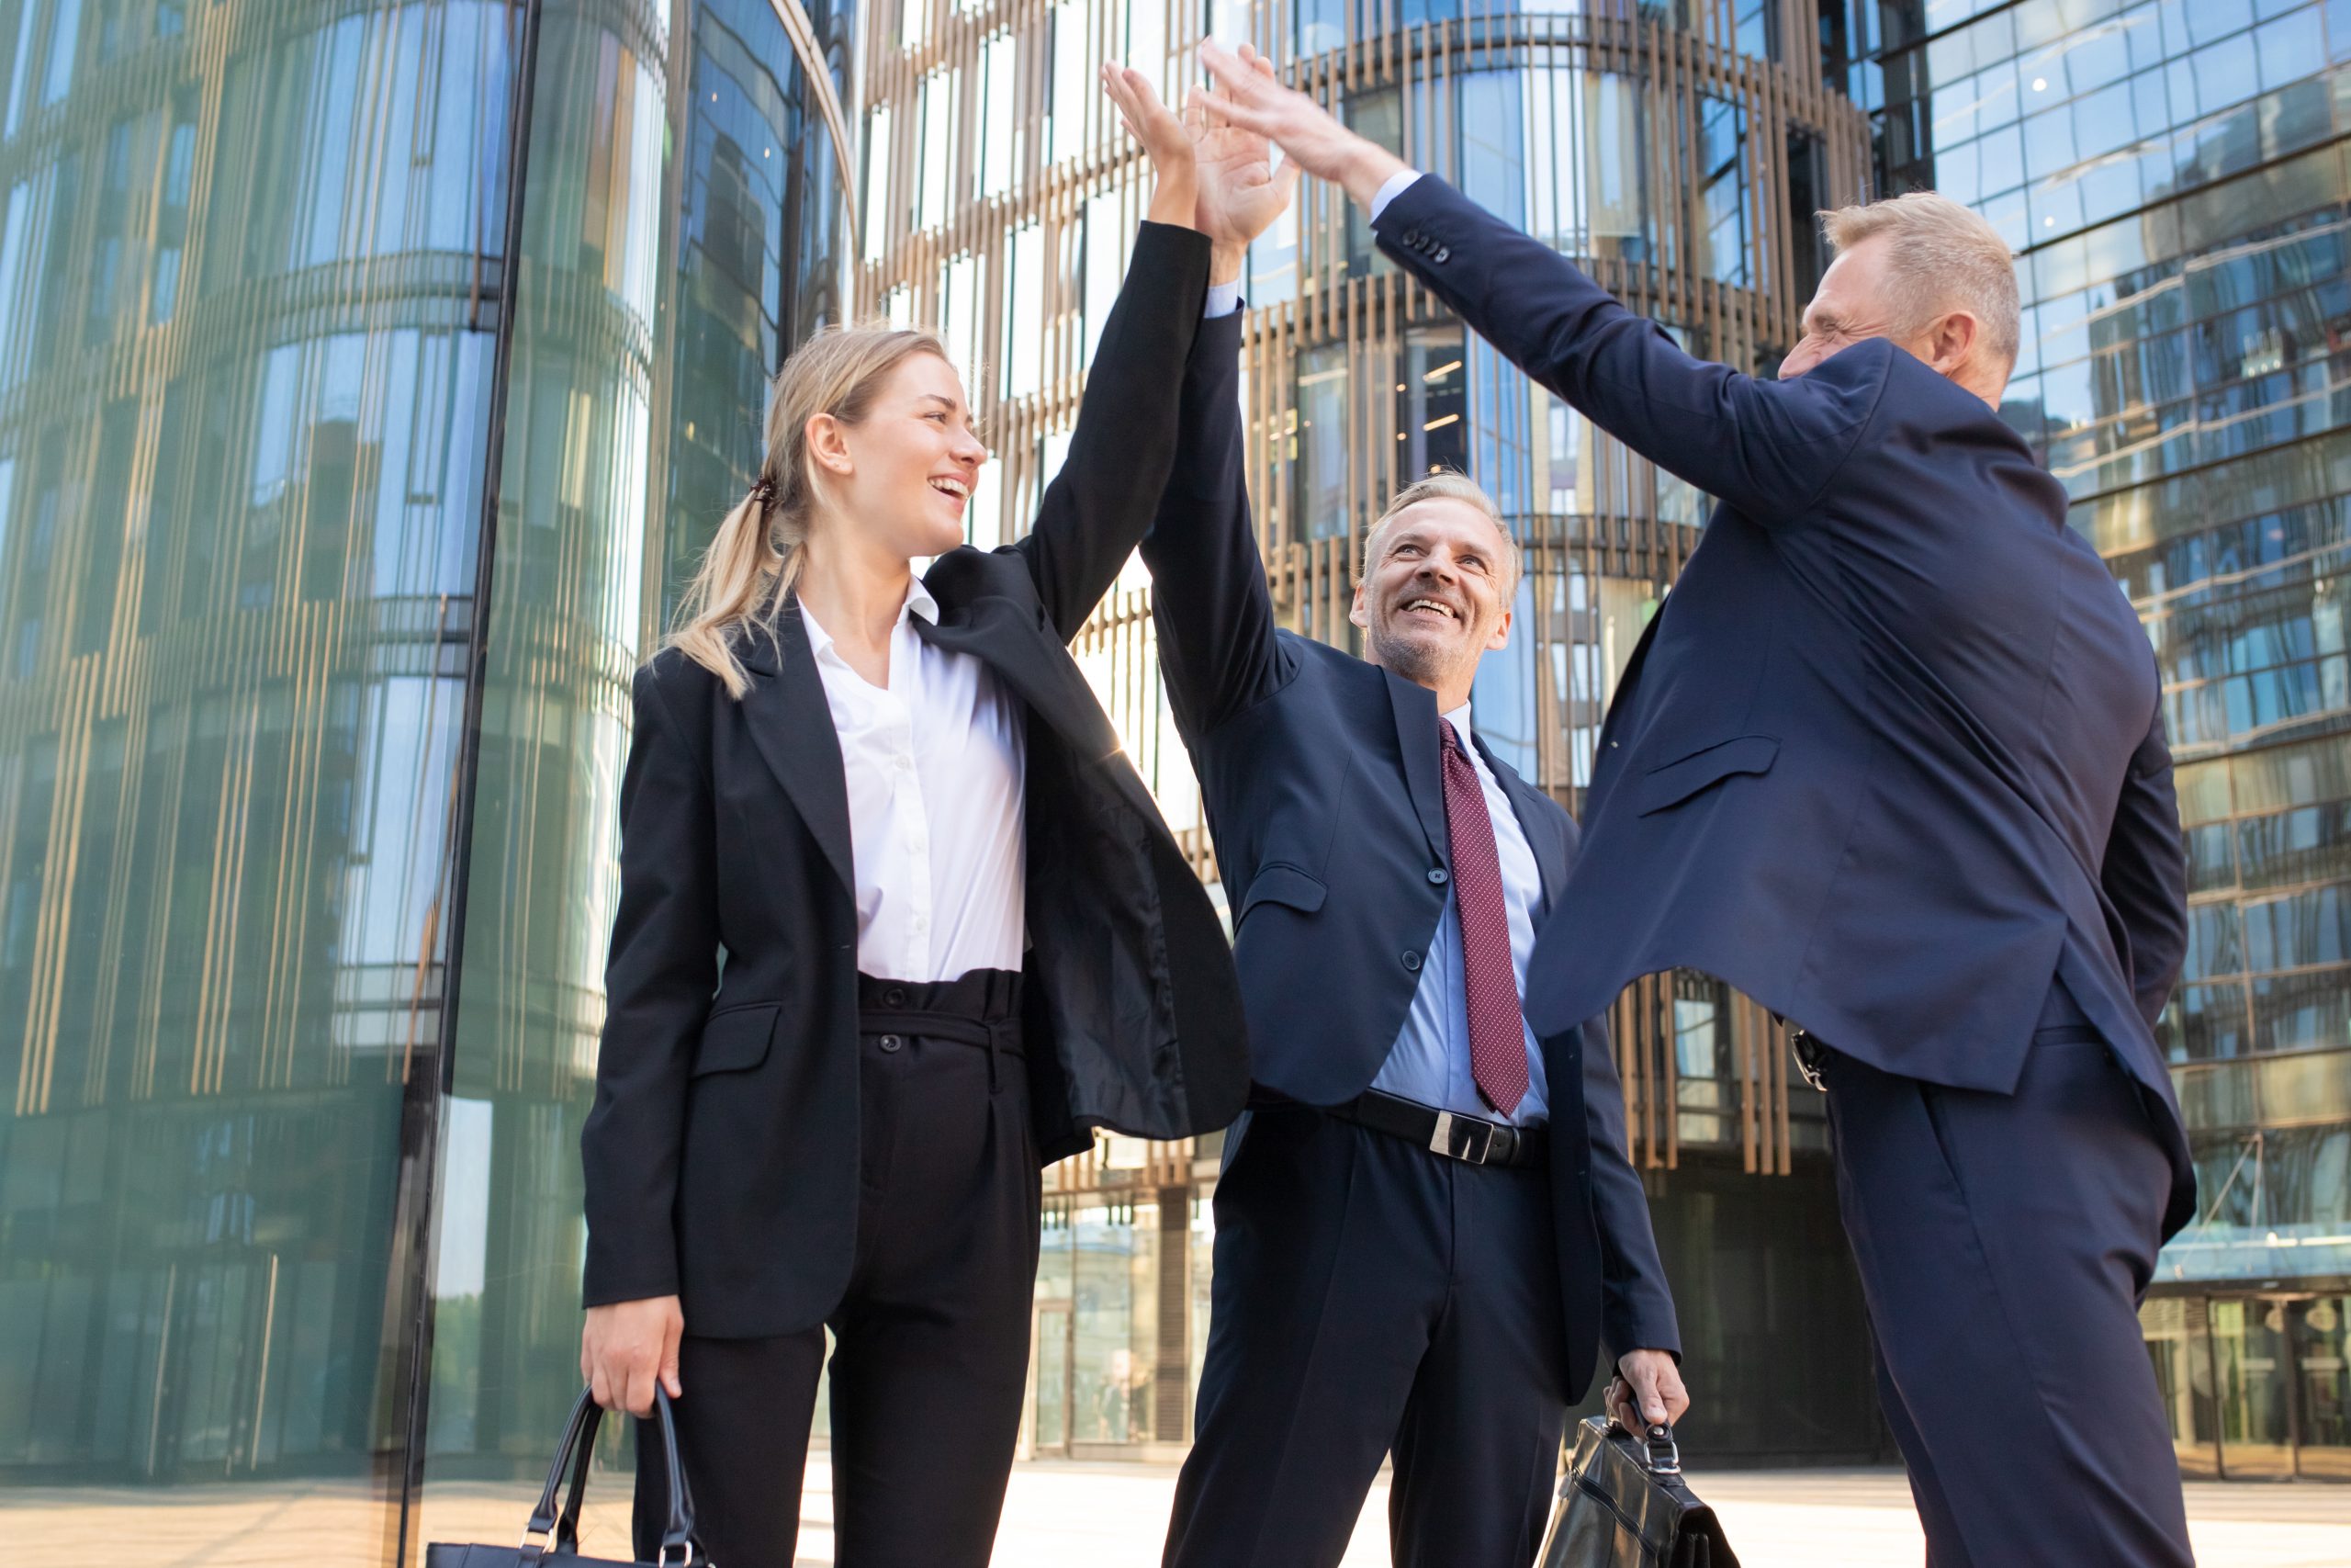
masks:
[[[1528,1016],[1700,969],[1838,1051],[2010,1093],[2062,978],[2193,1173],[2154,1041],[2186,950],[2161,679],[2067,494],[1881,339],[1693,360],[1434,176],[1380,247],[1528,376],[1719,498],[1601,729]]]

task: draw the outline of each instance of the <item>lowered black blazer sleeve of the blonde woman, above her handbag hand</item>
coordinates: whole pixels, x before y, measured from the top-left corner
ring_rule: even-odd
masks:
[[[677,654],[663,656],[672,665]],[[637,670],[621,776],[621,907],[604,966],[595,1107],[581,1128],[585,1305],[677,1293],[677,1164],[686,1079],[719,983],[710,776],[656,665]]]

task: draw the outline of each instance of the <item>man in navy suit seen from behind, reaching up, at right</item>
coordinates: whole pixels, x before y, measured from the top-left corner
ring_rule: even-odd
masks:
[[[1601,729],[1531,1023],[1688,966],[1801,1025],[1935,1568],[2189,1563],[2137,1324],[2196,1201],[2151,1032],[2184,849],[2146,637],[1996,414],[2008,247],[1937,195],[1829,214],[1759,381],[1204,59],[1465,322],[1721,501]]]

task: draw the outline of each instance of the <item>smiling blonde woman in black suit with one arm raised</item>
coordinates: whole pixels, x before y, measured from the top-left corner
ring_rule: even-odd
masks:
[[[1039,1164],[1246,1093],[1223,929],[1067,651],[1168,480],[1211,252],[1183,127],[1105,87],[1152,221],[1027,538],[964,545],[987,449],[938,339],[825,334],[637,672],[581,1371],[677,1401],[726,1568],[792,1561],[828,1326],[837,1561],[987,1563]]]

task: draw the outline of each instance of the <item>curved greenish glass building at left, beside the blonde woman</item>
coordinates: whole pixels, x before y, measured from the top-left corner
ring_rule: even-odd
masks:
[[[0,5],[12,1556],[520,1530],[628,675],[842,315],[846,28]]]

